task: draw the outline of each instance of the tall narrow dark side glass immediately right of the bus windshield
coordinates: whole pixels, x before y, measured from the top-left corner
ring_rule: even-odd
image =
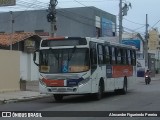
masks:
[[[90,60],[92,69],[97,68],[97,51],[96,51],[96,43],[90,42]]]

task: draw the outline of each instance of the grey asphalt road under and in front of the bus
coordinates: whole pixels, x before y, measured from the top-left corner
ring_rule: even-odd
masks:
[[[67,96],[62,102],[55,102],[52,97],[49,97],[28,102],[3,104],[0,105],[0,111],[160,111],[159,96],[160,80],[152,81],[150,85],[145,85],[143,81],[138,81],[135,88],[126,95],[107,93],[100,101],[95,101],[91,96]],[[65,112],[61,114],[63,116]],[[29,119],[31,120],[31,118]],[[160,117],[48,117],[42,119],[160,120]]]

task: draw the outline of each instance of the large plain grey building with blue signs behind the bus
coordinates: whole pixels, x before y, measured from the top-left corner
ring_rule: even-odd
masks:
[[[47,10],[0,14],[0,33],[36,32],[49,35]],[[95,7],[57,9],[57,36],[116,36],[116,16]],[[13,17],[13,20],[11,20]]]

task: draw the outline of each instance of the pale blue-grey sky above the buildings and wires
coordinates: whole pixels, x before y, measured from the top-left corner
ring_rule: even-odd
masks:
[[[16,0],[16,6],[0,7],[0,12],[17,10],[47,9],[50,0]],[[119,14],[120,0],[58,0],[57,8],[95,6],[106,12],[117,16]],[[123,17],[124,31],[139,32],[145,34],[146,14],[148,14],[148,24],[152,27],[160,28],[160,0],[123,0],[124,3],[131,3],[127,16]],[[160,30],[160,29],[159,29]]]

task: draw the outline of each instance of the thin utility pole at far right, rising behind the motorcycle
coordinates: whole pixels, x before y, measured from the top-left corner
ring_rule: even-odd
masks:
[[[146,35],[145,35],[145,66],[148,68],[148,38],[149,38],[149,34],[148,34],[148,14],[146,14]]]

